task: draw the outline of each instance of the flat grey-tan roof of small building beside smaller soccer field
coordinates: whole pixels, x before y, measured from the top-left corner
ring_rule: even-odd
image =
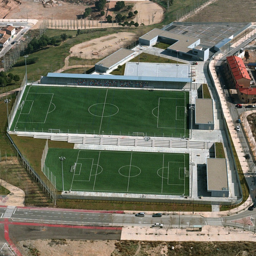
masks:
[[[227,161],[225,158],[207,158],[207,190],[228,190]]]

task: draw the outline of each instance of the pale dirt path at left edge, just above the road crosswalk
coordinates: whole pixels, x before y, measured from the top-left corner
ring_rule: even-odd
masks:
[[[7,183],[3,179],[0,179],[0,183],[2,184],[2,187],[5,187],[11,192],[7,196],[0,196],[0,205],[24,206],[25,193],[23,190]]]

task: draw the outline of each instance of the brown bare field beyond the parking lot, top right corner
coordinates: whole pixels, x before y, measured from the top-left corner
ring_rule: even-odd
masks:
[[[192,22],[250,22],[256,20],[255,0],[218,0],[186,21]]]

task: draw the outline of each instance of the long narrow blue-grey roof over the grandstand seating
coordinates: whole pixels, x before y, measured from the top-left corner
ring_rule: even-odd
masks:
[[[142,80],[142,81],[167,81],[167,82],[184,82],[190,81],[190,78],[180,77],[141,77],[141,76],[119,76],[119,75],[88,75],[88,74],[65,74],[65,73],[48,73],[47,77],[60,78],[79,78],[79,79],[112,79],[112,80]]]

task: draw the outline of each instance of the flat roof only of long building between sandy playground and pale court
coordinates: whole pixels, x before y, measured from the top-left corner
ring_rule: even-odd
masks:
[[[114,53],[110,54],[108,57],[97,62],[95,65],[100,65],[100,66],[104,66],[107,68],[111,68],[116,63],[119,63],[123,59],[131,56],[133,53],[135,53],[135,51],[121,48],[118,51],[115,51]]]

